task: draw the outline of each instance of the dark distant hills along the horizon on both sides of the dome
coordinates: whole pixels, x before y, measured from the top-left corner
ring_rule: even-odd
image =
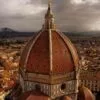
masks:
[[[30,37],[35,32],[18,32],[10,28],[2,28],[0,29],[0,38],[13,38],[13,37]],[[67,36],[92,36],[92,37],[100,37],[100,31],[91,31],[91,32],[63,32]]]

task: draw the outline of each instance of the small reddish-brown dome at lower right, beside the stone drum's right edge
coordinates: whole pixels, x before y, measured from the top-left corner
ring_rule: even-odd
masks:
[[[78,100],[95,100],[95,99],[94,95],[88,88],[81,86],[79,87]]]

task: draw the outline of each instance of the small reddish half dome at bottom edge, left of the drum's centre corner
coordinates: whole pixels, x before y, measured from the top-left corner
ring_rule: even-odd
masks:
[[[51,100],[48,96],[38,91],[28,91],[20,96],[19,100]]]

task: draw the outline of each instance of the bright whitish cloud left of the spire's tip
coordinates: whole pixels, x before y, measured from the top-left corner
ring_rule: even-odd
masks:
[[[38,2],[39,0],[37,0]],[[40,3],[34,2],[31,4],[31,0],[1,0],[0,13],[5,16],[30,16],[41,13],[46,9],[45,6],[42,6]]]

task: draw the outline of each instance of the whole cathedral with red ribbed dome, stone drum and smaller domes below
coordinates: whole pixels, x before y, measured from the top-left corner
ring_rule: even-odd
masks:
[[[45,22],[25,46],[19,63],[18,100],[95,100],[80,82],[81,64],[70,39],[54,23],[48,3]]]

